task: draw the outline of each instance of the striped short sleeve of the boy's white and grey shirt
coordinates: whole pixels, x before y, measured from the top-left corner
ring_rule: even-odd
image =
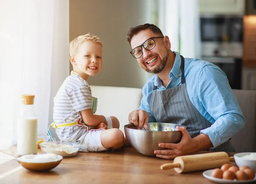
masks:
[[[76,112],[85,109],[92,109],[92,95],[88,86],[78,86],[68,95],[70,103]]]

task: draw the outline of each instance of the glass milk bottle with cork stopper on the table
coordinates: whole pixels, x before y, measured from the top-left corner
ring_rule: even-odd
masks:
[[[37,154],[37,115],[35,95],[21,95],[22,106],[17,118],[17,155]]]

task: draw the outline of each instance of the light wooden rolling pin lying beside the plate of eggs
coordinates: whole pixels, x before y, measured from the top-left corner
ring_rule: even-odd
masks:
[[[235,161],[234,157],[229,157],[226,152],[212,152],[197,155],[178,156],[173,163],[161,165],[161,170],[174,168],[177,173],[190,171],[207,170],[220,168],[223,164]]]

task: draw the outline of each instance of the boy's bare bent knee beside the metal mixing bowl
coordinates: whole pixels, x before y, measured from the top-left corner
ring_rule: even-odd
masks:
[[[124,134],[117,128],[103,130],[100,139],[106,149],[118,149],[124,145]]]

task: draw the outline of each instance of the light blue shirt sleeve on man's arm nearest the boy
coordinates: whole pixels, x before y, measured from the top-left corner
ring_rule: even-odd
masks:
[[[146,112],[148,112],[148,115],[149,115],[148,123],[157,122],[156,119],[151,115],[150,108],[149,108],[152,91],[153,91],[153,86],[150,88],[149,83],[146,83],[143,86],[142,88],[143,97],[141,98],[140,107],[138,108],[138,110],[145,110]]]

